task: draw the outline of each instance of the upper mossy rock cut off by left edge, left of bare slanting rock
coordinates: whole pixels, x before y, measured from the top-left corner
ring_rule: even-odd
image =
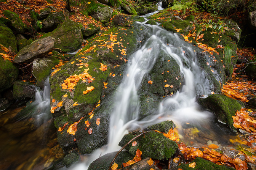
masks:
[[[13,31],[11,31],[10,28],[8,28],[5,24],[0,24],[0,44],[5,46],[6,48],[11,47],[11,49],[14,52],[17,51],[17,40],[13,34]],[[2,51],[2,49],[0,49]]]

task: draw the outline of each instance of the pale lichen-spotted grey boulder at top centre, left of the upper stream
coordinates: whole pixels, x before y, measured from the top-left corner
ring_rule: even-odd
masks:
[[[113,9],[110,8],[109,6],[105,6],[105,7],[98,6],[97,10],[94,11],[94,13],[90,14],[90,16],[102,23],[106,23],[110,20],[112,13],[113,13]]]

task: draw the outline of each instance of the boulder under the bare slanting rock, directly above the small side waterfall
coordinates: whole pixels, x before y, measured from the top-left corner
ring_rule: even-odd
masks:
[[[55,57],[36,58],[33,61],[32,74],[37,79],[37,86],[44,88],[45,79],[50,75],[54,66],[59,64],[59,60]]]

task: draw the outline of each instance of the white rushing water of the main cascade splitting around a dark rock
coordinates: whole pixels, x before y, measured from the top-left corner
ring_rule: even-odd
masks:
[[[145,23],[146,21],[141,24]],[[88,155],[85,162],[75,165],[70,168],[71,170],[87,170],[95,159],[120,150],[118,143],[122,137],[136,127],[147,127],[164,120],[173,120],[179,126],[183,123],[208,124],[211,113],[198,111],[195,102],[196,89],[202,94],[206,93],[206,90],[192,46],[179,39],[178,35],[156,25],[147,26],[151,28],[151,36],[138,51],[130,56],[125,72],[127,76],[124,76],[114,95],[115,108],[110,117],[108,145]],[[161,50],[170,58],[174,58],[180,66],[184,74],[184,85],[174,96],[166,97],[159,103],[158,112],[154,116],[138,121],[140,103],[137,91],[141,88],[144,75],[152,69]],[[189,58],[182,51],[186,51]],[[185,60],[188,66],[184,66],[182,60]]]

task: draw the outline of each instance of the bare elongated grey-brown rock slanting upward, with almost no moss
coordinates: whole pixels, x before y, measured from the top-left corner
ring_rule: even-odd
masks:
[[[33,61],[35,58],[43,57],[53,49],[55,38],[46,37],[37,39],[30,45],[21,49],[14,58],[16,63],[26,63]]]

